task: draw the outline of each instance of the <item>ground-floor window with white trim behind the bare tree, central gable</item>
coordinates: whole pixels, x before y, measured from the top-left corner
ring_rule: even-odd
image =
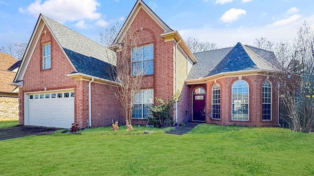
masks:
[[[154,105],[154,89],[139,90],[135,97],[132,118],[147,119],[149,116],[148,108]]]

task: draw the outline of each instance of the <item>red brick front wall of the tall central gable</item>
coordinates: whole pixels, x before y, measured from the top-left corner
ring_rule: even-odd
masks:
[[[174,42],[164,42],[164,38],[160,36],[164,32],[163,29],[143,9],[139,10],[129,31],[134,32],[138,37],[138,46],[154,44],[154,74],[144,77],[146,84],[143,88],[154,88],[154,97],[170,99],[174,93]],[[121,55],[118,53],[117,57],[119,60]],[[157,103],[156,100],[154,103]],[[132,119],[132,124],[146,125],[146,120]]]

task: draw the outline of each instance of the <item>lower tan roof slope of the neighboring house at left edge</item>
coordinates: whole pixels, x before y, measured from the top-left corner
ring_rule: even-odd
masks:
[[[15,87],[9,86],[9,83],[12,83],[16,72],[8,70],[0,70],[0,92],[9,92],[11,93]]]

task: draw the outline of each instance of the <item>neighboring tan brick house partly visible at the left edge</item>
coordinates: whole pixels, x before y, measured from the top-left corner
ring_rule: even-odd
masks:
[[[14,57],[0,52],[0,121],[19,119],[19,89],[8,85],[14,79],[18,63]]]

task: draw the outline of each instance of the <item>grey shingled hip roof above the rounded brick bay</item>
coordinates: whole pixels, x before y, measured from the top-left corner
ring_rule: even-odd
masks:
[[[199,63],[192,66],[187,79],[241,70],[274,70],[274,66],[270,63],[276,63],[273,52],[241,43],[237,43],[234,47],[194,53],[194,55]]]

